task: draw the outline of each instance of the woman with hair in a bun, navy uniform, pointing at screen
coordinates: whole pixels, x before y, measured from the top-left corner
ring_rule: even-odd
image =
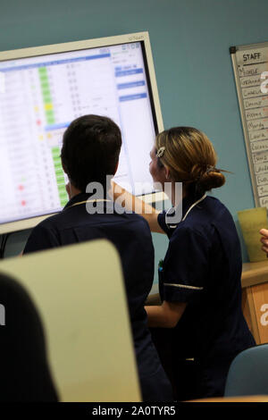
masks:
[[[182,183],[179,221],[126,191],[125,204],[142,206],[151,231],[169,246],[159,266],[161,305],[147,306],[148,325],[175,399],[222,396],[230,363],[255,345],[241,310],[241,252],[229,210],[207,191],[225,183],[211,141],[191,127],[158,134],[151,153],[155,182]],[[116,197],[120,193],[116,194]]]

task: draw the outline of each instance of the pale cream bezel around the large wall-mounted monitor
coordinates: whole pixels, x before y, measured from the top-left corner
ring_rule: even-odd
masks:
[[[71,51],[79,51],[88,48],[98,48],[104,46],[115,46],[119,44],[130,44],[131,42],[141,42],[145,69],[147,72],[147,85],[150,96],[150,103],[152,105],[153,120],[155,124],[155,133],[163,131],[163,118],[161,113],[160,100],[158,95],[158,88],[155,77],[155,66],[153,61],[152,49],[150,44],[149,33],[147,31],[130,33],[125,35],[116,35],[105,38],[92,38],[81,41],[66,42],[62,44],[54,44],[47,46],[30,46],[28,48],[15,49],[10,51],[0,52],[0,63],[21,59],[35,57],[39,55],[53,55],[59,53],[66,53]],[[150,194],[151,201],[162,201],[165,197],[163,194]],[[141,196],[140,196],[141,197]],[[0,223],[0,234],[10,233],[13,231],[23,231],[31,229],[38,223],[58,213],[42,214],[34,217],[16,220],[13,222]]]

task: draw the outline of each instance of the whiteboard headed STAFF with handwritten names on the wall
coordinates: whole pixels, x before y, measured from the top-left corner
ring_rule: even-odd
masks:
[[[268,208],[268,42],[231,46],[230,55],[255,206]]]

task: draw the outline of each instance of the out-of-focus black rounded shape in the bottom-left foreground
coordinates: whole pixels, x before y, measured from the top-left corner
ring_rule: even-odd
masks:
[[[38,309],[21,284],[3,273],[0,296],[4,308],[0,402],[56,401]]]

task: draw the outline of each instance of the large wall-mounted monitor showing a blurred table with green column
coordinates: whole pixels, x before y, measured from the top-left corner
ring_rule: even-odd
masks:
[[[136,195],[153,191],[149,152],[163,123],[146,32],[0,53],[0,79],[2,231],[63,209],[63,133],[85,114],[121,128],[115,181]]]

